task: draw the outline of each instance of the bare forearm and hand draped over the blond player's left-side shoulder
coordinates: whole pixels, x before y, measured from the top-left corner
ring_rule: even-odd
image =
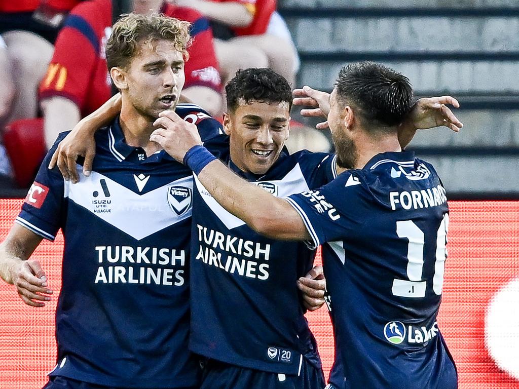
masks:
[[[52,155],[49,169],[58,168],[65,180],[79,181],[76,170],[78,156],[85,157],[83,174],[90,175],[95,156],[94,134],[97,130],[110,123],[121,112],[121,95],[117,93],[90,115],[81,119],[63,141],[60,142]]]

